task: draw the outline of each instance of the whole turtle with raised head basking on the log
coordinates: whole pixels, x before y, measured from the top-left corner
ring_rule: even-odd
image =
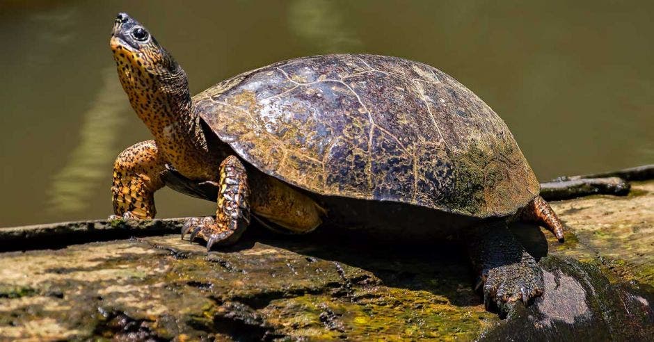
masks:
[[[397,243],[455,233],[487,309],[543,292],[541,268],[507,225],[536,222],[562,243],[563,224],[507,125],[445,72],[390,56],[309,56],[191,97],[180,64],[126,13],[110,45],[154,136],[116,158],[113,218],[154,218],[154,192],[168,185],[216,202],[215,217],[182,227],[207,250],[236,242],[253,218],[294,234],[329,225]]]

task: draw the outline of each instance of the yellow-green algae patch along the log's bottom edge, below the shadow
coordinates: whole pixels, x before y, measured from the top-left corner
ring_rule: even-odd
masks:
[[[483,307],[457,307],[427,291],[357,289],[351,300],[303,295],[275,300],[262,310],[289,336],[310,339],[463,339],[497,322]]]

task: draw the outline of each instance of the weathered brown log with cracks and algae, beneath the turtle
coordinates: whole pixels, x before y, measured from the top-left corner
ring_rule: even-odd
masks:
[[[280,236],[254,224],[209,254],[179,234],[2,253],[0,340],[651,340],[654,181],[552,207],[566,243],[512,227],[539,259],[545,289],[504,320],[472,291],[463,247],[321,229]],[[179,231],[183,221],[149,229]],[[84,223],[65,226],[93,222]]]

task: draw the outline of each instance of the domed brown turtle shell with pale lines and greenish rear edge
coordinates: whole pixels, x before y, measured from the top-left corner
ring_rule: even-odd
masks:
[[[218,83],[193,103],[245,161],[319,195],[486,218],[515,213],[540,190],[502,119],[423,63],[296,58]]]

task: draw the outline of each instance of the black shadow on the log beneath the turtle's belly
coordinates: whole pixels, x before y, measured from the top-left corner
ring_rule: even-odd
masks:
[[[332,261],[337,269],[341,265],[360,268],[371,272],[384,286],[442,295],[458,307],[481,304],[481,296],[473,290],[476,275],[466,247],[460,241],[389,243],[363,232],[331,230],[330,227],[295,236],[259,230],[251,232],[247,238],[305,255],[308,260]],[[244,246],[250,244],[242,241],[239,245],[241,243]],[[356,286],[356,283],[371,280],[355,277],[344,279],[344,282]],[[348,290],[344,288],[343,291]]]

